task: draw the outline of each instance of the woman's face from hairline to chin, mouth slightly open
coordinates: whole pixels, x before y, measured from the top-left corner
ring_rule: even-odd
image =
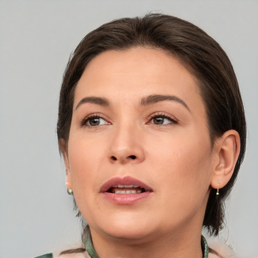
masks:
[[[93,237],[201,228],[216,154],[196,79],[161,50],[99,54],[76,87],[64,159]]]

